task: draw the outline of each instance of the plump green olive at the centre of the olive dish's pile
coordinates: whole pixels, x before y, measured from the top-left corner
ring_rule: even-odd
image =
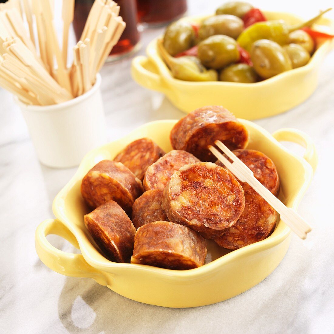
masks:
[[[225,35],[214,35],[198,44],[198,58],[205,67],[220,69],[239,60],[236,41]]]

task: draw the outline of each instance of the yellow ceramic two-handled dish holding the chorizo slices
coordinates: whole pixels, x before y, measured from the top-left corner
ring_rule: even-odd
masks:
[[[275,162],[281,179],[279,198],[296,209],[317,165],[312,141],[298,130],[282,129],[270,135],[252,122],[240,121],[251,137],[248,148],[264,152]],[[83,215],[89,210],[80,194],[82,177],[96,163],[113,159],[122,147],[142,137],[149,137],[166,152],[170,151],[169,133],[176,122],[145,124],[86,155],[73,178],[53,201],[57,220],[45,220],[37,227],[36,251],[46,266],[63,275],[93,278],[127,298],[166,307],[194,307],[223,301],[252,288],[278,266],[291,239],[290,228],[280,220],[270,237],[233,252],[209,240],[208,263],[186,271],[114,263],[99,253],[83,222]],[[279,141],[303,145],[306,148],[304,158],[286,150]],[[82,255],[56,249],[47,241],[48,234],[64,237],[79,248]]]

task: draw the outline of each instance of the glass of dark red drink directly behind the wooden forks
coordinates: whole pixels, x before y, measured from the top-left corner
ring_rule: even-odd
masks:
[[[94,0],[75,0],[73,29],[77,41],[80,40],[93,3]],[[130,52],[140,39],[137,29],[138,19],[136,0],[119,0],[117,3],[120,6],[119,15],[122,16],[123,21],[126,23],[126,27],[120,40],[113,47],[110,53],[111,55]]]

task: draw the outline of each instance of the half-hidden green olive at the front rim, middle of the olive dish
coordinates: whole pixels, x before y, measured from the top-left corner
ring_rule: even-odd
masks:
[[[221,70],[219,80],[253,83],[258,81],[258,75],[252,66],[247,64],[233,64]]]

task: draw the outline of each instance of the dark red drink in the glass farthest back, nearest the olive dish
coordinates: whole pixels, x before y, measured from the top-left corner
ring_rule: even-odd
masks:
[[[186,0],[137,0],[140,22],[158,25],[181,17],[187,11]]]

